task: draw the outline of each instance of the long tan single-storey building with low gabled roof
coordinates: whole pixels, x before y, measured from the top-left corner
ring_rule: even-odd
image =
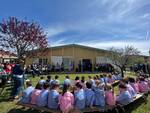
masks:
[[[36,52],[36,51],[34,51]],[[108,58],[110,51],[69,44],[63,46],[49,47],[46,54],[36,54],[26,58],[26,65],[41,64],[50,65],[56,69],[62,65],[64,70],[94,70],[96,64],[109,63]]]

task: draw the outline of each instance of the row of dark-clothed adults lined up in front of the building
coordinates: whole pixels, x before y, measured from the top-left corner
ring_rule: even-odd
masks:
[[[67,67],[62,63],[61,65],[57,63],[56,65],[41,65],[41,64],[31,64],[26,67],[26,73],[35,75],[40,75],[43,72],[49,73],[49,72],[71,72],[74,71],[74,64],[71,63]],[[111,64],[108,63],[99,63],[95,64],[94,70],[92,68],[92,63],[90,64],[78,64],[78,67],[75,69],[76,72],[113,72],[114,67]]]

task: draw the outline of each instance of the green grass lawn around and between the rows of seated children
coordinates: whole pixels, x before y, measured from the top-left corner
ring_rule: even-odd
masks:
[[[68,74],[70,76],[70,78],[73,80],[75,78],[75,76],[85,76],[85,78],[87,79],[88,75],[94,76],[96,74]],[[133,73],[126,73],[126,75],[128,76],[134,76]],[[52,78],[54,78],[55,75],[52,75]],[[61,82],[63,82],[66,74],[59,74],[60,78],[59,80]],[[37,81],[40,79],[39,77],[29,77],[29,79],[32,81],[33,85],[35,86]],[[45,76],[46,79],[46,76]],[[117,87],[115,88],[115,91],[117,92]],[[1,89],[0,89],[1,92]],[[11,92],[11,87],[6,87],[4,89],[4,91],[2,92],[2,94],[0,95],[0,113],[37,113],[38,111],[36,110],[31,110],[31,109],[25,109],[23,107],[18,107],[15,105],[16,101],[9,101],[9,95]],[[147,104],[145,103],[140,103],[135,105],[135,106],[131,106],[132,111],[131,113],[150,113],[150,96],[148,97],[148,102]],[[14,112],[15,110],[15,112]]]

